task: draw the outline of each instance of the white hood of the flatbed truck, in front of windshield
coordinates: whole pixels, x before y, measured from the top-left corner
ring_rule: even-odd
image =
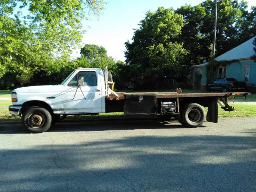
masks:
[[[16,93],[62,92],[63,85],[40,85],[14,89]]]

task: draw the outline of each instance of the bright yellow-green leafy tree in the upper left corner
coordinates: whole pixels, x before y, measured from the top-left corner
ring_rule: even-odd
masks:
[[[0,1],[0,78],[26,84],[52,69],[55,58],[68,58],[81,42],[83,18],[99,16],[103,6],[103,0]]]

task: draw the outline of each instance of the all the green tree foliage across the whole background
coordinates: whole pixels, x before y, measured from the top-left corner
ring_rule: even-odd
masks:
[[[256,34],[256,6],[249,12],[246,1],[217,1],[215,57]],[[70,52],[80,46],[84,34],[83,19],[100,16],[104,4],[103,0],[0,1],[0,87],[55,84],[74,68],[108,66],[116,88],[131,82],[137,89],[162,89],[169,88],[173,79],[187,83],[190,67],[212,57],[215,0],[205,0],[196,6],[146,12],[132,41],[125,42],[125,63],[91,44],[71,60]]]

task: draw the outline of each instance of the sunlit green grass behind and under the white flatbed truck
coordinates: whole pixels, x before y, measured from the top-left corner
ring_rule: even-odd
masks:
[[[0,100],[0,122],[1,121],[10,121],[10,120],[20,120],[19,116],[12,116],[9,113],[8,106],[12,103],[10,101],[1,101]],[[235,111],[228,112],[224,111],[219,107],[218,115],[219,117],[242,117],[242,116],[256,116],[256,106],[252,105],[241,105],[241,104],[230,104],[235,107]],[[206,113],[208,108],[205,108]],[[87,120],[94,118],[115,118],[123,116],[122,112],[116,113],[100,113],[97,115],[87,115],[87,116],[68,116],[68,120]]]

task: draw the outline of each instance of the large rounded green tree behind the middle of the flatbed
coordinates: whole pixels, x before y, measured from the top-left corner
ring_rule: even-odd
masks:
[[[164,88],[168,80],[179,77],[179,63],[188,53],[182,43],[175,41],[183,25],[182,16],[173,9],[159,7],[156,12],[146,13],[134,32],[133,42],[125,43],[131,81],[140,88],[152,89]]]

